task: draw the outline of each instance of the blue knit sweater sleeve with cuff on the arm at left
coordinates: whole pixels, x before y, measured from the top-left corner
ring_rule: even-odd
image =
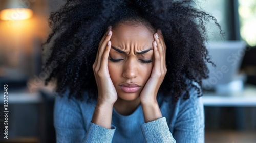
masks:
[[[84,125],[79,102],[75,98],[57,96],[54,105],[56,142],[111,142],[115,127],[103,128],[90,123]]]

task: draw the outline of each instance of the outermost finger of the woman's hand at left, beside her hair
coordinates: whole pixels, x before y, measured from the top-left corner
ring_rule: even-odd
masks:
[[[98,57],[96,58],[97,62],[96,62],[96,67],[95,67],[95,70],[97,70],[97,71],[100,68],[101,57],[102,57],[104,50],[108,44],[108,41],[110,41],[110,39],[111,39],[111,36],[112,36],[112,31],[110,30],[108,35],[105,37],[104,41],[102,42],[101,46],[98,49]]]

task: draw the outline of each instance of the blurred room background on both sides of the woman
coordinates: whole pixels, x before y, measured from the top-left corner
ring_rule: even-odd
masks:
[[[41,43],[51,31],[50,12],[65,2],[0,1],[0,142],[55,142],[54,85],[44,86]],[[206,46],[217,67],[209,64],[209,79],[203,81],[205,142],[256,142],[256,1],[195,5],[215,16],[226,34],[207,25]],[[6,84],[8,139],[2,115]]]

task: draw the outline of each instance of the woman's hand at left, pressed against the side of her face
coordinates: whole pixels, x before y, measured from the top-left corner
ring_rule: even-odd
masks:
[[[112,31],[110,27],[99,42],[98,52],[93,64],[94,76],[98,87],[98,106],[104,106],[106,104],[114,105],[117,100],[117,92],[110,78],[108,69],[111,36]]]

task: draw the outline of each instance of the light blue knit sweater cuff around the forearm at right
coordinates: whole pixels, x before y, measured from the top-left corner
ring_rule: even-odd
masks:
[[[142,124],[141,130],[146,142],[176,142],[165,117]]]

